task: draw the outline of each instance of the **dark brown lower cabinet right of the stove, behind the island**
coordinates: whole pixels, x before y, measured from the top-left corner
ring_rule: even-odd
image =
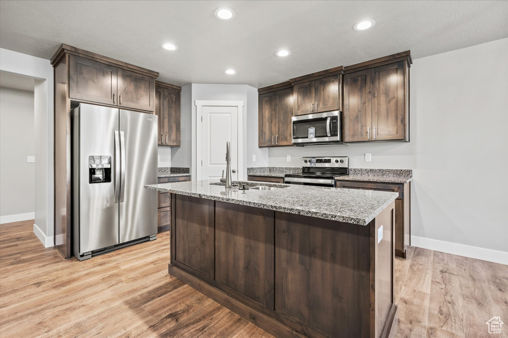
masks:
[[[374,183],[359,181],[335,181],[335,187],[377,191],[393,191],[399,194],[395,200],[395,256],[406,258],[411,237],[411,188],[410,183]]]

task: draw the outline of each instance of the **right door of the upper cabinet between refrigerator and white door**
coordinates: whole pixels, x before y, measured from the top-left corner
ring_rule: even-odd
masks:
[[[180,92],[164,89],[164,145],[180,146]],[[162,132],[162,131],[161,131]]]

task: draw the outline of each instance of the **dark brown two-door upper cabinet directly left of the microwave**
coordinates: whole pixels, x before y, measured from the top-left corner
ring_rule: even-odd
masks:
[[[259,95],[259,146],[291,146],[293,88]]]

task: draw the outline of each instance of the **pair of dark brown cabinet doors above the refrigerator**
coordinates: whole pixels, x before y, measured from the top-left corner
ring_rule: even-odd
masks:
[[[85,57],[69,57],[69,97],[153,112],[155,78]]]

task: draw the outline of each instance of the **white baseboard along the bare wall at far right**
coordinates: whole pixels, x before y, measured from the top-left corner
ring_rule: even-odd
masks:
[[[508,265],[508,252],[411,236],[411,246]]]

